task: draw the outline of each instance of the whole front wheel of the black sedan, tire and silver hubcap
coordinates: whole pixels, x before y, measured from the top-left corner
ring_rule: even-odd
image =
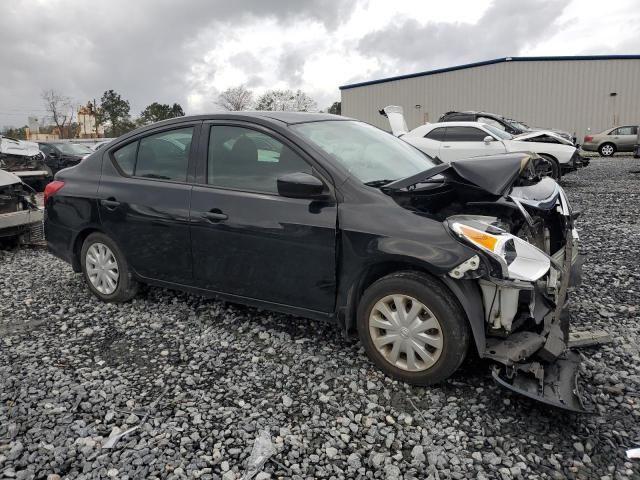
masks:
[[[455,298],[417,272],[388,275],[365,291],[358,306],[358,333],[376,366],[413,385],[432,385],[451,376],[469,343],[469,327]]]

